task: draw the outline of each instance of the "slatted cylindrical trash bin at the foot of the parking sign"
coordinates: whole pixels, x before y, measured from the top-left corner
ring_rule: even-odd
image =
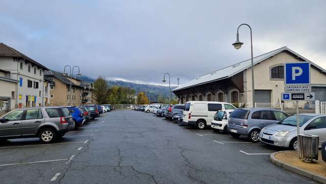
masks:
[[[299,157],[305,162],[312,162],[318,159],[319,136],[312,134],[298,134]]]

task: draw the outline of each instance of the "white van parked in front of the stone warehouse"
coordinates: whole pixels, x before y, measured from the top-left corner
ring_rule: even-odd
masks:
[[[189,101],[185,104],[183,111],[183,124],[195,126],[203,129],[211,126],[214,115],[219,110],[236,109],[230,103],[225,102],[206,102],[206,101]]]

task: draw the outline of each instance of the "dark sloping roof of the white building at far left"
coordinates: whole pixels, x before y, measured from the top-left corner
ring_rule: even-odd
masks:
[[[20,53],[19,51],[9,47],[8,45],[6,45],[4,43],[0,43],[0,56],[23,58],[23,59],[30,61],[31,63],[34,63],[34,64],[42,67],[43,70],[49,70],[47,67],[43,66],[42,64],[38,63],[37,61],[29,58],[28,56]]]

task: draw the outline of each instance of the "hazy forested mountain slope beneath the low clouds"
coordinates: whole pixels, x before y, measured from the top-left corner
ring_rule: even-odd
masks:
[[[88,76],[80,76],[78,77],[80,80],[86,82],[93,82],[95,79],[90,78]],[[138,84],[134,82],[126,82],[121,80],[107,80],[109,86],[122,86],[122,87],[130,87],[136,91],[136,95],[140,91],[147,91],[147,97],[150,98],[151,101],[157,101],[158,96],[164,96],[165,98],[169,97],[169,87],[161,86],[161,85],[152,85],[152,84]],[[171,89],[174,89],[177,86],[171,86]],[[175,95],[172,93],[172,99]]]

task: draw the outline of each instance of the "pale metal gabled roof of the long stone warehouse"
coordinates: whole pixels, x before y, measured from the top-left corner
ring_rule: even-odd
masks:
[[[302,58],[303,60],[305,61],[309,61],[308,59],[304,58],[303,56],[300,56],[299,54],[295,53],[294,51],[290,50],[289,48],[287,47],[282,47],[280,49],[277,49],[277,50],[274,50],[274,51],[270,51],[268,53],[265,53],[263,55],[260,55],[260,56],[257,56],[257,57],[254,57],[254,65],[270,58],[270,57],[273,57],[274,55],[277,55],[283,51],[288,51],[290,53],[292,53],[293,55],[296,55],[297,57],[299,58]],[[228,66],[228,67],[224,67],[218,71],[214,71],[214,72],[211,72],[209,74],[206,74],[206,75],[203,75],[203,76],[199,76],[175,89],[172,89],[171,91],[177,91],[177,90],[181,90],[181,89],[185,89],[185,88],[188,88],[188,87],[193,87],[193,86],[197,86],[197,85],[202,85],[202,84],[205,84],[205,83],[209,83],[209,82],[214,82],[214,81],[218,81],[218,80],[221,80],[221,79],[226,79],[226,78],[230,78],[244,70],[246,70],[247,68],[251,67],[251,58],[250,59],[247,59],[247,60],[244,60],[244,61],[241,61],[239,63],[236,63],[236,64],[233,64],[231,66]],[[311,63],[311,65],[317,67],[321,72],[324,72],[326,73],[326,71],[318,66],[317,64],[309,61]]]

